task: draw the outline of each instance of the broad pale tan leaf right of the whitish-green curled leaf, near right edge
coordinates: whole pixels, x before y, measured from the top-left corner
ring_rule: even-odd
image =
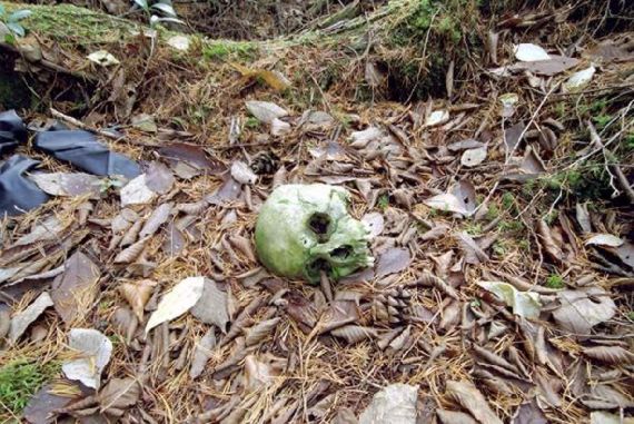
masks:
[[[600,287],[557,293],[559,306],[553,310],[557,324],[572,333],[588,334],[597,324],[612,319],[616,305],[610,294]]]

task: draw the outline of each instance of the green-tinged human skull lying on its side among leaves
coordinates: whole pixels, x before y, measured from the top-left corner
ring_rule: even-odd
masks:
[[[349,194],[326,184],[284,185],[262,205],[256,225],[261,263],[284,277],[333,279],[370,266],[369,231],[347,210]]]

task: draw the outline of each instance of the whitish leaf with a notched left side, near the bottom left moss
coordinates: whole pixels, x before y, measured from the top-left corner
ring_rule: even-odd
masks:
[[[63,374],[69,379],[80,381],[87,387],[99,388],[101,372],[110,362],[112,342],[96,329],[72,328],[68,346],[77,351],[79,357],[61,365]]]

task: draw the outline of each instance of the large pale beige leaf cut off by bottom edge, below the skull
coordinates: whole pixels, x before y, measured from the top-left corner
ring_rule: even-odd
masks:
[[[417,400],[417,386],[390,384],[373,396],[359,424],[415,424]]]

